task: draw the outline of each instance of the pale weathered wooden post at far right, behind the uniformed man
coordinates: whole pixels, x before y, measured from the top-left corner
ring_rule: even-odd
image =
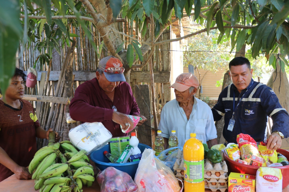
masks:
[[[285,63],[283,61],[281,61],[281,62],[282,62],[281,65],[285,65]],[[289,82],[288,82],[288,78],[286,76],[286,72],[285,71],[283,72],[282,70],[280,72],[280,61],[279,61],[279,59],[277,59],[276,71],[277,71],[276,80],[275,80],[276,72],[273,73],[273,80],[275,80],[273,82],[273,91],[277,95],[277,97],[279,99],[279,103],[281,104],[281,106],[283,108],[285,108],[286,111],[289,111],[289,95],[288,95],[288,93],[289,93]],[[280,92],[279,92],[279,88],[280,88]],[[286,150],[289,149],[289,138],[282,140],[281,148],[285,148]]]

